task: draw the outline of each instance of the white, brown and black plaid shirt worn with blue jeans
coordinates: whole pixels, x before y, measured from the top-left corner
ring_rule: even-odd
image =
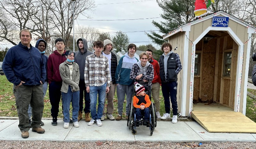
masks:
[[[110,72],[107,57],[102,54],[97,57],[95,52],[86,57],[84,82],[85,87],[102,86],[105,83],[107,83],[107,87],[110,86]]]

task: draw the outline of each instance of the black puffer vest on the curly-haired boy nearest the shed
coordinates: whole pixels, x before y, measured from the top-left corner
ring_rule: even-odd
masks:
[[[171,53],[169,58],[168,58],[166,79],[165,79],[165,74],[164,74],[164,55],[160,56],[159,65],[160,65],[160,78],[161,78],[162,82],[177,81],[178,80],[178,77],[177,77],[176,72],[175,72],[175,70],[177,69],[176,53]]]

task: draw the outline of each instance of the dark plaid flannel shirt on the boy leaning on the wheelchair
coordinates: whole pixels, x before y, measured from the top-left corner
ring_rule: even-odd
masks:
[[[138,64],[137,63],[133,64],[132,70],[130,73],[130,79],[135,80],[135,78],[141,74],[139,72],[140,72],[140,67],[138,66]],[[146,74],[142,74],[142,77],[140,78],[139,81],[142,81],[143,79],[148,81],[148,82],[145,82],[146,85],[148,86],[152,85],[152,80],[154,79],[154,67],[152,64],[148,65]]]

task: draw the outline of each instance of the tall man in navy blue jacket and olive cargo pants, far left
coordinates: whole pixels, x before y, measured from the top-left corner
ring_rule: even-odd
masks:
[[[20,31],[20,43],[11,47],[3,61],[3,71],[9,82],[13,83],[13,93],[19,116],[22,138],[29,137],[28,105],[32,107],[32,131],[44,133],[40,122],[44,110],[43,84],[46,78],[44,59],[39,50],[30,44],[31,32]]]

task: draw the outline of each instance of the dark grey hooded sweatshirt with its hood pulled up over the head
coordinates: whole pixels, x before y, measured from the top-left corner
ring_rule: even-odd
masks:
[[[79,42],[80,39],[82,39],[83,43],[84,43],[84,52],[81,52],[81,50],[78,46],[78,42]],[[92,52],[88,51],[88,45],[87,45],[86,39],[84,39],[84,38],[80,38],[80,39],[78,39],[76,41],[78,51],[75,53],[75,59],[74,60],[79,66],[80,74],[84,74],[85,59],[88,55],[91,55]],[[84,80],[84,75],[80,75],[80,80]]]

